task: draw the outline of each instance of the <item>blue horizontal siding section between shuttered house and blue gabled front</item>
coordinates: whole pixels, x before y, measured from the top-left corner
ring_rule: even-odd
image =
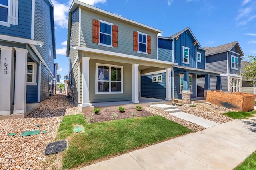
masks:
[[[158,38],[158,60],[172,62],[172,41]]]

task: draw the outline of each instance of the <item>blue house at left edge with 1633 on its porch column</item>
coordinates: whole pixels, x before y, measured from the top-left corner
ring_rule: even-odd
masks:
[[[52,91],[53,5],[50,0],[1,0],[0,13],[0,116],[24,117],[27,103],[42,102]]]

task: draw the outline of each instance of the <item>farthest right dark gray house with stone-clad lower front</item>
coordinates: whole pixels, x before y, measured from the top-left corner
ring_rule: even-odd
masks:
[[[206,70],[222,72],[221,84],[223,91],[242,92],[241,60],[244,59],[244,53],[238,43],[220,45],[217,47],[204,47],[206,51]],[[214,78],[211,79],[212,81]],[[216,90],[211,86],[211,90]]]

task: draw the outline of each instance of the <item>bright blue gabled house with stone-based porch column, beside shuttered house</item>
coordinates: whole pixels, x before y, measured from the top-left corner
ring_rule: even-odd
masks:
[[[207,90],[211,89],[211,84],[215,84],[217,90],[221,90],[220,74],[222,73],[205,69],[206,51],[208,50],[201,47],[189,27],[170,37],[158,37],[158,60],[177,63],[172,65],[171,74],[167,76],[171,87],[166,88],[166,91],[171,91],[172,99],[190,102],[191,98],[205,98]],[[154,77],[166,77],[164,72],[142,75],[142,87],[154,87],[154,90],[142,88],[142,97],[165,98],[166,92],[160,91],[156,94],[158,91],[156,88],[162,89],[166,79],[162,78],[160,82],[154,81]],[[202,88],[198,87],[198,77],[206,80]],[[212,77],[215,78],[215,82],[210,83]]]

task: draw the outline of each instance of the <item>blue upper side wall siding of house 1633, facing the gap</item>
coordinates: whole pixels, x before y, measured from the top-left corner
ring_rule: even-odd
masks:
[[[44,45],[35,45],[36,49],[53,73],[53,39],[51,25],[51,8],[45,0],[35,0],[35,30],[34,39],[43,41]],[[49,61],[49,47],[51,61]]]

